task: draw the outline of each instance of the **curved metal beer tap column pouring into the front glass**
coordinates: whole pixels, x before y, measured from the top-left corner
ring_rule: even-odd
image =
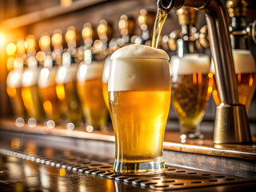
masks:
[[[216,109],[214,143],[251,142],[246,107],[238,102],[237,82],[231,52],[225,7],[220,0],[158,0],[158,8],[170,12],[182,6],[204,10],[210,31],[210,49],[216,70],[220,105]]]

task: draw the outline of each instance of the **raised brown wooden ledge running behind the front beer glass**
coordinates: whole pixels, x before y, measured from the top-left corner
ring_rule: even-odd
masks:
[[[56,126],[49,129],[46,126],[28,126],[22,124],[17,126],[13,120],[1,120],[0,127],[2,130],[21,131],[25,133],[50,134],[69,138],[86,138],[90,140],[98,140],[104,142],[114,142],[114,133],[111,128],[105,131],[94,130],[86,131],[85,128],[77,127],[75,130],[67,130],[64,126]],[[256,136],[253,138],[256,142]],[[203,139],[187,139],[183,141],[179,138],[177,131],[166,130],[164,150],[173,150],[178,152],[194,153],[194,154],[210,154],[218,157],[226,158],[242,158],[256,160],[256,144],[250,145],[214,145],[212,135],[205,134]]]

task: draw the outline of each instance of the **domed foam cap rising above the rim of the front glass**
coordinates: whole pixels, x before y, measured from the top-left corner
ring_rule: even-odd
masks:
[[[119,50],[114,51],[111,59],[113,58],[164,58],[170,59],[166,51],[155,49],[151,46],[143,46],[139,44],[133,44],[130,46],[124,46]]]

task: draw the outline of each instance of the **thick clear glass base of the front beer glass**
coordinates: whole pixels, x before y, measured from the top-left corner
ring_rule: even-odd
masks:
[[[165,170],[164,162],[114,162],[114,172],[117,174],[161,174]]]

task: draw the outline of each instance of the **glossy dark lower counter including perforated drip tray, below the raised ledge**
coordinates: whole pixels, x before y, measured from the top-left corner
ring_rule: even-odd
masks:
[[[114,158],[55,147],[47,142],[49,136],[0,134],[0,191],[254,191],[256,187],[256,178],[172,165],[164,174],[122,176],[113,173]],[[65,146],[66,139],[56,142]]]

